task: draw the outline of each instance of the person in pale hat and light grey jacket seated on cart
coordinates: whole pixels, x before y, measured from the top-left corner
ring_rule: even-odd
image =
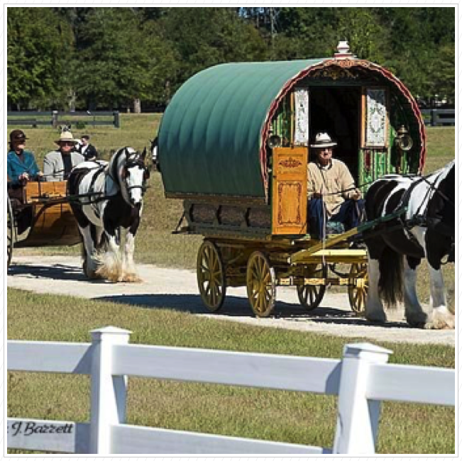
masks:
[[[55,141],[59,146],[57,150],[48,152],[43,160],[43,174],[47,181],[63,181],[75,165],[85,161],[83,155],[75,152],[75,143],[70,131],[61,133],[60,138]]]

